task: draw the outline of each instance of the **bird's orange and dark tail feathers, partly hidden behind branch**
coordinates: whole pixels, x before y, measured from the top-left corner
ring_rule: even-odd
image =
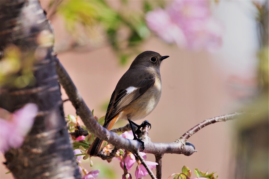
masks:
[[[119,115],[116,115],[115,118],[113,118],[109,123],[105,123],[103,127],[105,127],[107,130],[111,130],[112,126],[115,124],[116,120],[118,119]],[[96,156],[101,150],[102,145],[104,144],[104,141],[101,140],[100,138],[95,138],[93,143],[91,144],[88,154],[90,156]]]

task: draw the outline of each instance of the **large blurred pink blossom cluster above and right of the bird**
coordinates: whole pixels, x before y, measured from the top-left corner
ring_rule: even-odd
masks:
[[[211,16],[209,1],[172,1],[146,14],[148,27],[167,43],[208,51],[222,43],[221,25]]]

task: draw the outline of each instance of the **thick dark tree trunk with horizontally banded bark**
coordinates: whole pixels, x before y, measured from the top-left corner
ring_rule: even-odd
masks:
[[[53,55],[54,32],[37,0],[0,1],[1,61],[6,49],[19,49],[21,66],[30,67],[35,83],[14,85],[21,68],[1,86],[0,107],[10,112],[35,103],[39,112],[22,147],[5,153],[15,178],[80,178],[63,113]],[[51,43],[51,44],[50,44]],[[25,65],[27,63],[33,65]]]

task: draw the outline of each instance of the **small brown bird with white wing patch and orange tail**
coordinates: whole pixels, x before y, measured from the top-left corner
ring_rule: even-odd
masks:
[[[108,104],[103,127],[111,130],[118,120],[128,120],[133,131],[134,140],[144,143],[135,135],[133,121],[143,119],[157,106],[161,97],[160,65],[169,56],[161,56],[157,52],[140,53],[132,62],[130,68],[121,77]],[[145,123],[142,123],[145,125]],[[150,126],[150,123],[146,122]],[[96,138],[91,144],[88,154],[96,156],[104,141]]]

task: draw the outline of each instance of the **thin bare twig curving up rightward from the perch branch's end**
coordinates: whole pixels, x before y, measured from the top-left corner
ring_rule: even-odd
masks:
[[[188,130],[187,132],[185,132],[185,134],[183,134],[179,139],[176,140],[176,142],[186,142],[188,140],[188,138],[190,138],[190,136],[192,136],[193,134],[195,134],[197,131],[199,131],[200,129],[202,129],[203,127],[206,127],[210,124],[214,124],[216,122],[221,122],[221,121],[226,121],[226,120],[232,120],[235,119],[236,117],[246,114],[245,112],[234,112],[231,114],[224,114],[221,116],[217,116],[214,118],[210,118],[210,119],[206,119],[203,122],[200,122],[199,124],[197,124],[196,126],[192,127],[190,130]]]

